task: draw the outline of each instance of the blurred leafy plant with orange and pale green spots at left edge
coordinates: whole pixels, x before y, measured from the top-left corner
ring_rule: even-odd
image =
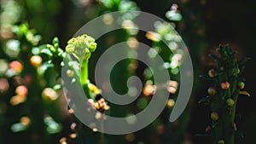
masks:
[[[28,135],[32,135],[28,129],[35,129],[33,127],[37,122],[34,119],[42,116],[44,124],[38,124],[42,127],[36,129],[46,130],[49,134],[58,133],[61,131],[61,125],[55,122],[54,118],[46,116],[50,112],[44,109],[44,105],[51,107],[49,101],[44,101],[44,98],[57,100],[57,87],[50,86],[53,83],[44,79],[44,73],[49,71],[56,61],[60,61],[56,58],[60,57],[63,51],[56,49],[57,41],[54,45],[38,45],[41,36],[29,29],[27,24],[12,26],[10,32],[11,37],[1,39],[3,49],[0,49],[0,95],[4,99],[0,100],[0,109],[3,114],[11,112],[16,113],[18,117],[15,121],[12,119],[14,124],[4,125],[14,133],[27,130]],[[55,75],[48,77],[50,79]],[[45,88],[46,85],[49,88]],[[3,101],[10,105],[3,105]],[[9,117],[7,119],[9,121]]]

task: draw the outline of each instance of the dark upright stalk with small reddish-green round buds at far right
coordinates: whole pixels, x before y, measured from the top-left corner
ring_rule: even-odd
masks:
[[[212,144],[234,144],[235,135],[243,137],[236,127],[236,104],[239,95],[250,96],[243,90],[245,79],[241,77],[245,68],[243,63],[249,58],[236,60],[236,52],[228,45],[220,45],[217,51],[219,55],[210,55],[217,67],[201,76],[213,84],[199,103],[209,105],[212,110],[212,124],[207,128],[212,135]]]

